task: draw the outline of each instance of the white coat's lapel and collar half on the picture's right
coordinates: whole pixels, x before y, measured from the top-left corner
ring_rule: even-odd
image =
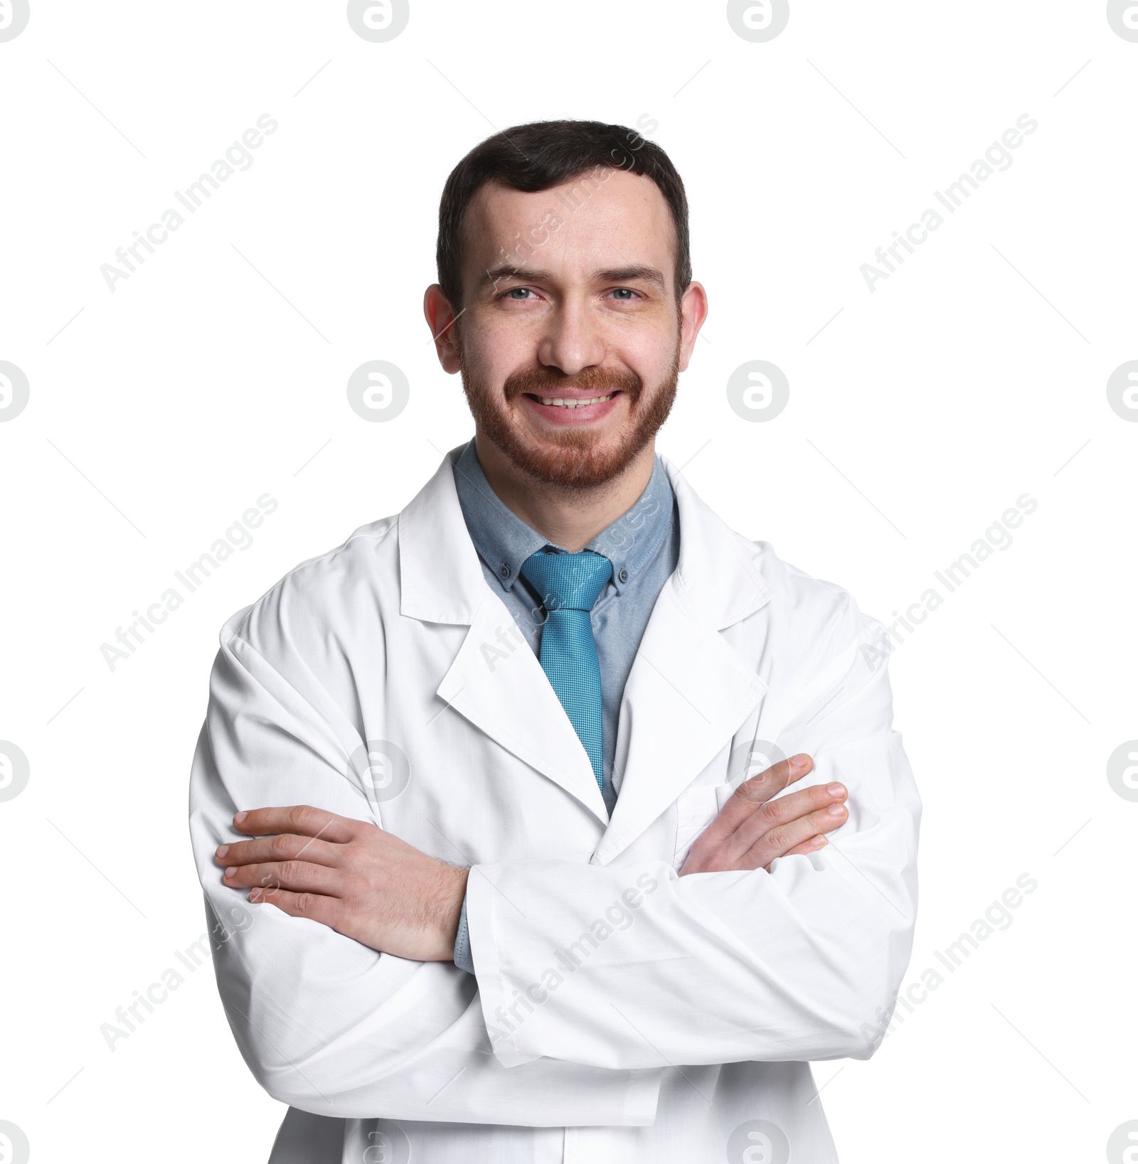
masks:
[[[759,551],[730,530],[664,460],[679,505],[680,558],[652,610],[621,702],[613,818],[594,854],[628,847],[715,758],[766,691],[756,660],[720,631],[754,613],[772,591]]]

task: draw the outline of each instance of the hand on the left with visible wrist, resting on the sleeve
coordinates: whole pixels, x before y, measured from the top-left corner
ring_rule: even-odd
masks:
[[[225,883],[250,888],[290,917],[308,917],[373,950],[416,961],[454,956],[468,870],[427,857],[366,821],[299,804],[238,812],[256,837],[220,845]]]

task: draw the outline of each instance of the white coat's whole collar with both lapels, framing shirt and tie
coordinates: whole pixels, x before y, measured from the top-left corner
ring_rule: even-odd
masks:
[[[454,487],[452,464],[461,449],[446,455],[398,517],[400,611],[471,627],[437,695],[606,823],[593,859],[608,861],[730,743],[766,690],[755,661],[740,658],[719,633],[771,598],[759,551],[660,459],[679,508],[679,565],[624,688],[616,753],[622,779],[609,821],[588,755],[540,662],[524,644],[509,650],[513,618],[486,582]]]

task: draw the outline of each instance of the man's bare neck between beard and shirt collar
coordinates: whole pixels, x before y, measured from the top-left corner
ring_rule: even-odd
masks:
[[[574,554],[636,504],[652,476],[655,443],[649,441],[620,476],[605,484],[566,489],[523,474],[482,433],[474,438],[479,463],[502,504],[543,538]]]

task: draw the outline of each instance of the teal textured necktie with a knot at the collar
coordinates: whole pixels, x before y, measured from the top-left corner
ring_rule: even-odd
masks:
[[[566,554],[539,549],[522,562],[522,576],[542,596],[542,670],[585,746],[596,786],[605,789],[601,665],[589,611],[613,576],[613,563],[592,549]]]

